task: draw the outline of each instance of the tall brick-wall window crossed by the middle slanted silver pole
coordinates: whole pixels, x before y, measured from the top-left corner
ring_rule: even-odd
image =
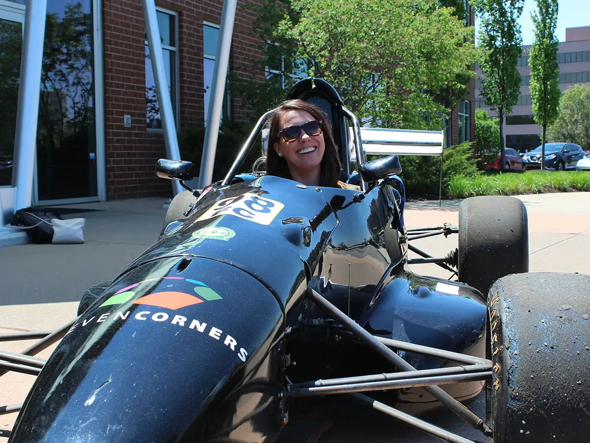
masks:
[[[160,41],[162,42],[162,55],[164,58],[164,70],[166,83],[172,100],[172,112],[177,121],[178,114],[178,15],[176,12],[156,8],[158,27],[160,29]],[[146,120],[148,129],[162,129],[160,108],[156,95],[156,80],[153,75],[152,58],[148,44],[148,37],[145,39],[146,54]]]

